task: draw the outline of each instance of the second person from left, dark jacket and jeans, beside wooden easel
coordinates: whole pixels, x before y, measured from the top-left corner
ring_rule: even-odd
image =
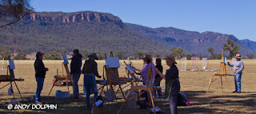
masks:
[[[70,74],[72,75],[72,86],[74,99],[79,97],[78,81],[81,75],[82,55],[78,49],[74,49],[70,64]]]

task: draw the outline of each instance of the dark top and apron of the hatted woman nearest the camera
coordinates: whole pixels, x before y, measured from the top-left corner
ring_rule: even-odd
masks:
[[[178,80],[178,68],[176,65],[172,65],[170,69],[166,70],[165,98],[170,99],[170,96],[178,96],[180,88],[181,87]]]

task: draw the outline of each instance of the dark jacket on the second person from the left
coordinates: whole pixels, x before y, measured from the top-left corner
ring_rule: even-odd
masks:
[[[74,57],[71,58],[71,60],[70,74],[81,74],[82,55],[77,53]]]

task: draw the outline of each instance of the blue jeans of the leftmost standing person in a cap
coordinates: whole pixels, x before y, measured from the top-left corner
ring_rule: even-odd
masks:
[[[41,102],[41,92],[42,92],[42,86],[43,82],[45,81],[45,78],[42,77],[35,77],[35,80],[37,81],[38,87],[37,92],[35,92],[35,102]]]

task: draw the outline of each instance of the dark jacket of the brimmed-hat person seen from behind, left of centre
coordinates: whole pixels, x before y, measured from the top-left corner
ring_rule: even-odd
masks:
[[[85,61],[85,64],[82,68],[82,73],[94,73],[94,75],[98,77],[98,67],[96,61],[94,61],[94,58],[90,57]]]

